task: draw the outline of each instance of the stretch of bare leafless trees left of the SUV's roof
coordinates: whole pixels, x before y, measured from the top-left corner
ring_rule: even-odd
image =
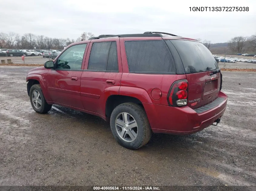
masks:
[[[71,43],[88,40],[94,37],[91,32],[83,32],[80,37],[75,39],[70,38],[50,38],[44,35],[35,35],[26,33],[20,36],[18,33],[0,33],[0,48],[8,49],[64,49]]]

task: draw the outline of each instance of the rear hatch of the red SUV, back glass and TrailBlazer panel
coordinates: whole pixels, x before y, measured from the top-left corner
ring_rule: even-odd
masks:
[[[197,41],[177,39],[166,40],[166,43],[171,51],[174,47],[178,51],[173,54],[180,57],[175,61],[181,60],[175,62],[176,68],[183,64],[188,81],[188,107],[195,109],[215,100],[220,91],[221,73],[211,52]]]

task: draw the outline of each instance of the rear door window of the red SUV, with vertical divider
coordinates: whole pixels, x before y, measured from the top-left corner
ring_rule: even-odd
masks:
[[[116,42],[93,43],[88,70],[118,72]]]

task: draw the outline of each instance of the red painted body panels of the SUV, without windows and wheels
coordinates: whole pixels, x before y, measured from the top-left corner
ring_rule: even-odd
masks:
[[[39,81],[47,103],[97,115],[105,120],[108,119],[106,102],[109,96],[137,98],[145,108],[152,131],[156,133],[191,134],[210,126],[224,114],[227,104],[227,95],[219,91],[220,73],[212,76],[211,71],[181,75],[129,73],[125,40],[158,39],[172,37],[105,38],[76,42],[69,46],[87,43],[80,71],[59,71],[39,67],[30,70],[26,80]],[[186,40],[182,37],[178,39]],[[119,72],[86,71],[92,43],[104,41],[117,43]],[[188,81],[188,101],[198,98],[200,101],[188,102],[184,107],[171,107],[167,101],[168,92],[173,82],[182,79]],[[202,113],[194,111],[195,108],[210,103],[217,97],[224,98],[218,106]]]

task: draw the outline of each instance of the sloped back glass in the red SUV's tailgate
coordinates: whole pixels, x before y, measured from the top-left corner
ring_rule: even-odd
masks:
[[[170,41],[181,57],[186,74],[218,69],[216,60],[210,50],[202,43],[189,40]]]

